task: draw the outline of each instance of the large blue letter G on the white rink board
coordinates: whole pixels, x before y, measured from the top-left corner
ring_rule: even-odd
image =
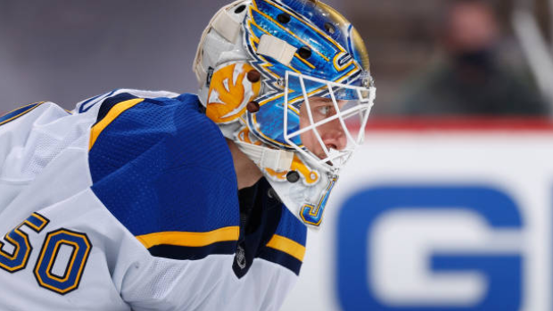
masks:
[[[516,311],[523,300],[523,257],[510,253],[432,250],[425,273],[430,275],[478,274],[483,280],[483,296],[470,305],[447,301],[394,304],[382,299],[368,275],[373,274],[369,242],[371,228],[384,215],[415,212],[462,211],[483,219],[491,232],[521,232],[523,220],[515,201],[507,193],[490,187],[467,186],[389,186],[370,188],[345,202],[338,220],[337,294],[344,311]],[[408,221],[410,221],[408,219]],[[400,280],[398,280],[400,282]],[[385,300],[385,301],[384,301]]]

